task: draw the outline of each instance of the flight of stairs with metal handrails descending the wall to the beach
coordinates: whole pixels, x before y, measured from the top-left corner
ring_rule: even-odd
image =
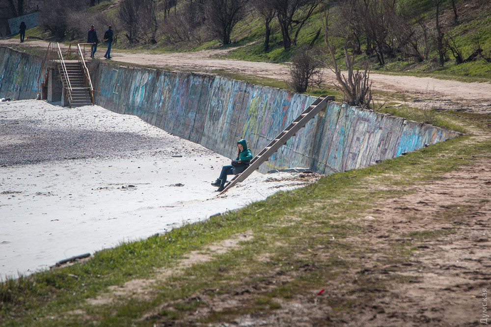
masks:
[[[63,82],[64,94],[68,96],[70,107],[91,106],[90,87],[85,86],[83,71],[78,60],[65,60],[65,72],[60,69],[61,81]],[[71,90],[68,92],[68,84]]]

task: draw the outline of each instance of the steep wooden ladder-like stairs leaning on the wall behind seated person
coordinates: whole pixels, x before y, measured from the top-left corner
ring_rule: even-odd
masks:
[[[276,152],[278,149],[286,144],[292,136],[295,136],[297,132],[305,127],[305,125],[310,121],[310,119],[314,118],[319,111],[326,109],[327,102],[334,100],[334,96],[321,95],[317,98],[307,109],[303,110],[300,115],[290,124],[287,128],[285,128],[278,136],[276,136],[257,156],[255,156],[251,161],[249,166],[244,172],[241,174],[237,174],[232,178],[223,191],[220,194],[225,193],[230,188],[232,188],[235,184],[244,181],[252,172],[256,169],[259,169],[259,166],[264,162],[268,161],[268,159]]]

